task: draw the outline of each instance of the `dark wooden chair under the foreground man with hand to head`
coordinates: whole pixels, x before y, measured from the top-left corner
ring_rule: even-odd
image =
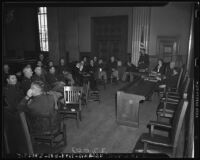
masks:
[[[36,115],[27,113],[27,122],[32,141],[50,144],[51,151],[60,143],[67,145],[66,125],[62,123],[60,115],[53,114]],[[59,136],[62,136],[57,139]]]

